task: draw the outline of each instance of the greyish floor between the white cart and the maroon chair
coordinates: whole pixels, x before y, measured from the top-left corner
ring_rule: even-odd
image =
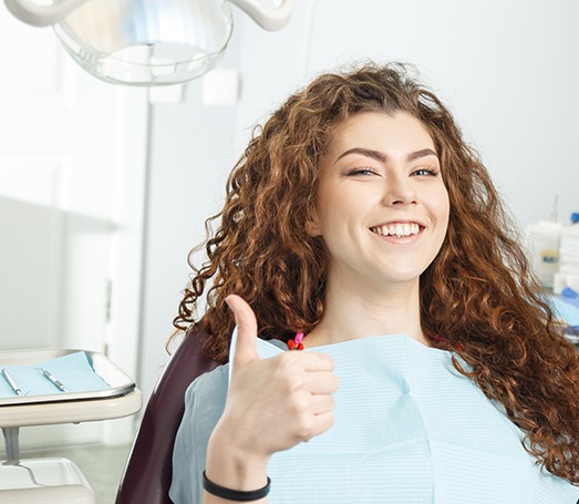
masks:
[[[21,459],[64,457],[74,462],[96,494],[97,504],[114,504],[131,446],[87,445],[25,451]]]

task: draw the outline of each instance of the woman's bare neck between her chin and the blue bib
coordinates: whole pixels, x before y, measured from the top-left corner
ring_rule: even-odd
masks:
[[[428,344],[421,327],[420,285],[400,285],[387,291],[358,291],[328,286],[322,320],[306,338],[307,347],[382,335],[407,335]]]

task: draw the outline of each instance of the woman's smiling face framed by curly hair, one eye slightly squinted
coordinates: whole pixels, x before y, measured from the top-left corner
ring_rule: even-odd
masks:
[[[431,135],[409,113],[364,112],[340,124],[308,223],[329,250],[330,281],[417,282],[446,235],[443,175]]]

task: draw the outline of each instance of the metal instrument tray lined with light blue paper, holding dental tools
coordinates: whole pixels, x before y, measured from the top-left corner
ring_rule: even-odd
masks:
[[[0,409],[4,405],[126,395],[135,382],[99,352],[73,349],[0,352]]]

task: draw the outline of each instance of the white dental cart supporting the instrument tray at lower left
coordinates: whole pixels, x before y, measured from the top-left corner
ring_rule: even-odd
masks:
[[[30,366],[72,352],[79,350],[0,352],[0,368]],[[142,394],[134,381],[106,357],[85,353],[94,372],[110,385],[106,389],[0,398],[0,428],[7,452],[7,460],[0,464],[0,504],[96,503],[91,485],[72,461],[21,460],[19,445],[20,428],[117,419],[141,409]]]

